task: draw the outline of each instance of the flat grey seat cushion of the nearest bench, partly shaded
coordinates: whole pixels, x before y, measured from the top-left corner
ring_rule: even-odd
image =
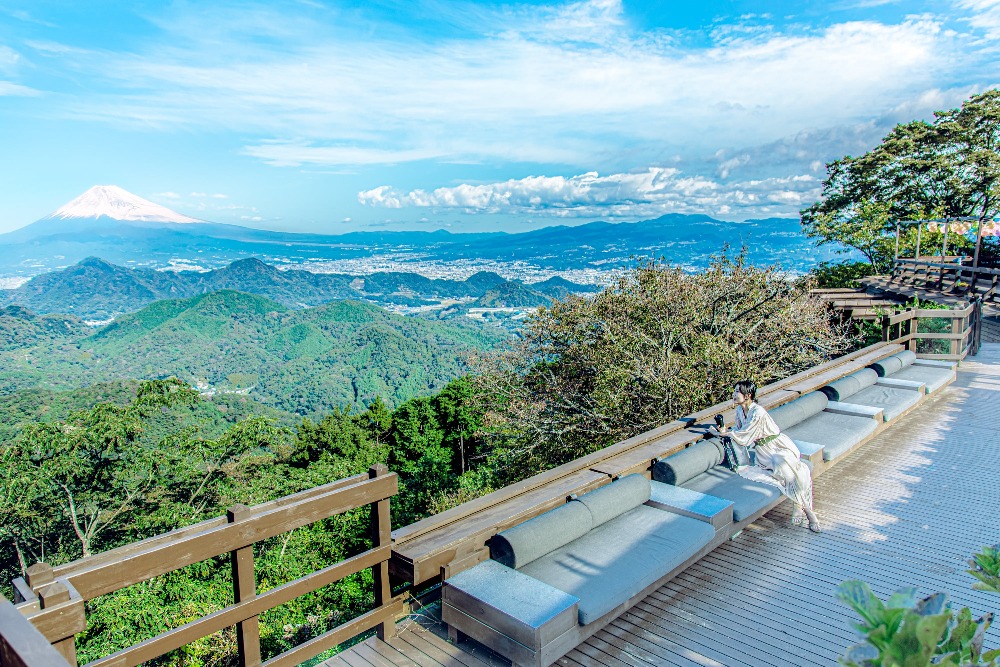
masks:
[[[710,523],[640,505],[520,571],[580,598],[580,624],[586,625],[680,566],[714,536]]]

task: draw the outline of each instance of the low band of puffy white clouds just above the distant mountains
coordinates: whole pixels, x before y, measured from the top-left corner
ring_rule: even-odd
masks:
[[[541,213],[557,217],[639,218],[664,213],[709,213],[745,219],[796,215],[816,200],[811,175],[722,183],[668,167],[601,176],[530,176],[498,183],[462,184],[400,192],[383,185],[358,193],[358,202],[382,208],[461,209],[467,213]]]

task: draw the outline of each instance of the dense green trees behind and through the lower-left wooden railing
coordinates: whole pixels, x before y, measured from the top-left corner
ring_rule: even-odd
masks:
[[[464,497],[458,475],[478,446],[469,392],[468,381],[459,379],[394,411],[376,399],[362,412],[337,409],[294,430],[257,416],[220,428],[213,403],[179,381],[153,380],[139,383],[130,400],[24,424],[12,442],[0,445],[0,576],[6,583],[36,561],[58,565],[100,553],[376,463],[389,462],[400,473],[393,519],[406,525]],[[258,589],[369,545],[365,508],[265,540],[254,547]],[[87,605],[80,658],[108,655],[231,603],[225,555],[101,596]],[[372,603],[365,571],[264,614],[265,657]],[[235,659],[235,635],[226,631],[155,662],[226,666]]]

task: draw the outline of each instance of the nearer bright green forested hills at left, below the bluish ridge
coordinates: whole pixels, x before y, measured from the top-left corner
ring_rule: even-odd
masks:
[[[357,301],[293,310],[232,290],[157,301],[96,331],[8,306],[0,394],[176,376],[207,394],[310,415],[439,390],[465,372],[466,352],[506,338],[465,318],[429,321]]]

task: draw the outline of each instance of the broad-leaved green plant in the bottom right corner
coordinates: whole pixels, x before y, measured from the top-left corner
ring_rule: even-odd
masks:
[[[986,547],[969,561],[978,590],[1000,593],[1000,548]],[[861,621],[854,626],[865,641],[847,649],[847,667],[931,667],[931,665],[996,667],[1000,649],[983,650],[990,612],[972,618],[968,607],[953,611],[948,596],[935,593],[918,599],[915,588],[903,588],[883,602],[863,581],[845,581],[837,599]]]

